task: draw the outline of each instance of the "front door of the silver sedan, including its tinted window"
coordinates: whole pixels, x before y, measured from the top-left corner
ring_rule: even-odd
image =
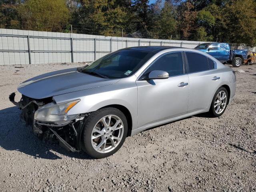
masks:
[[[183,58],[183,52],[163,54],[136,81],[138,127],[187,113],[189,82]],[[146,80],[153,70],[166,71],[169,78]]]

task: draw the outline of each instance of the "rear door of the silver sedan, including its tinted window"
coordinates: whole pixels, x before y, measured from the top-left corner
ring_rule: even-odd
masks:
[[[188,99],[188,113],[208,108],[212,102],[218,86],[216,63],[206,56],[186,52],[186,62],[190,92]]]

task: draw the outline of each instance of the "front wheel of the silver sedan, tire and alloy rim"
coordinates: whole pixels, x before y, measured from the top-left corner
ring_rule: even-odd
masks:
[[[82,148],[92,158],[105,158],[117,152],[128,131],[125,115],[116,108],[102,108],[85,120]]]

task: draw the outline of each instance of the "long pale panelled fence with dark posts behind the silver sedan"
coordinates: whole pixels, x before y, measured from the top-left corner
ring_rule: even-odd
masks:
[[[194,48],[200,43],[204,42],[0,29],[0,65],[90,62],[126,47]],[[238,44],[231,47],[256,51]]]

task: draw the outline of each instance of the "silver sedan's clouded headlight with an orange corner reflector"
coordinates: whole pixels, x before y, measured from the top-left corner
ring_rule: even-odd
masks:
[[[34,114],[34,119],[40,122],[50,122],[58,125],[65,124],[78,116],[78,114],[68,115],[67,113],[79,101],[80,99],[60,104],[48,103],[38,108]]]

